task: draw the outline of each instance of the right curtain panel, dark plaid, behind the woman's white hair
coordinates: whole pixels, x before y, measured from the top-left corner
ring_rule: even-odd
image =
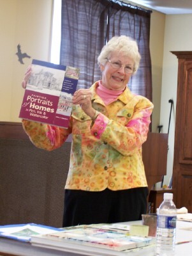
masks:
[[[112,3],[108,8],[108,39],[112,36],[126,35],[134,38],[142,56],[137,74],[129,81],[131,92],[152,100],[151,55],[149,33],[151,13]]]

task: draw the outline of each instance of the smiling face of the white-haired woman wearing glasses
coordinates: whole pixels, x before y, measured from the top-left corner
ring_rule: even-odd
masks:
[[[122,67],[119,69],[112,67],[112,63],[114,62],[120,63],[120,66],[122,65]],[[129,82],[129,78],[132,75],[132,73],[125,72],[125,67],[126,69],[129,67],[133,68],[133,60],[121,53],[117,54],[112,52],[105,66],[100,65],[102,72],[102,85],[109,90],[124,90],[125,86]]]

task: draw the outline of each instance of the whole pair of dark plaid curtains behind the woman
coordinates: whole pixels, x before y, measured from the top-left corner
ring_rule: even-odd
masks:
[[[149,33],[151,12],[112,0],[63,0],[61,56],[63,65],[80,68],[78,88],[89,88],[101,79],[97,58],[112,36],[131,36],[142,56],[129,81],[131,92],[152,100]]]

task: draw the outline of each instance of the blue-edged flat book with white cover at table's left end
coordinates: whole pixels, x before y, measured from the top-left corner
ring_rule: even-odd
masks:
[[[60,231],[62,231],[61,228],[54,228],[34,223],[0,226],[1,237],[11,238],[23,242],[31,241],[31,236],[34,235],[50,234]]]

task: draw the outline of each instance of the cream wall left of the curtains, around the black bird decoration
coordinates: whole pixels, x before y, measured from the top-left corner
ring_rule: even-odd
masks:
[[[20,122],[21,81],[32,58],[50,60],[52,0],[0,0],[0,121]],[[18,62],[17,45],[31,59]]]

